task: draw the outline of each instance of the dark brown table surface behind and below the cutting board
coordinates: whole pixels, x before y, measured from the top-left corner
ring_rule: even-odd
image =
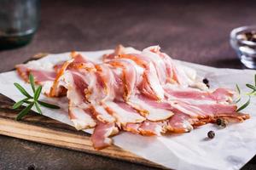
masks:
[[[90,51],[119,43],[138,49],[159,44],[175,59],[243,68],[230,48],[230,31],[255,24],[255,11],[253,1],[42,0],[38,32],[26,47],[0,51],[0,71],[9,71],[39,52]],[[255,159],[243,169],[256,169]],[[31,165],[36,169],[153,169],[0,136],[1,170]]]

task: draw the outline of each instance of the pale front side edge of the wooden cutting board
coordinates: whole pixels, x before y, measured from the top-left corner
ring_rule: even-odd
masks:
[[[41,144],[53,145],[64,149],[78,150],[94,155],[107,156],[122,161],[130,161],[149,167],[159,167],[166,169],[166,167],[143,159],[140,156],[136,156],[135,154],[122,150],[121,148],[114,145],[104,150],[95,150],[90,143],[90,138],[87,136],[55,131],[47,127],[38,127],[28,123],[16,122],[14,120],[4,119],[1,117],[0,134],[17,139],[26,139]]]

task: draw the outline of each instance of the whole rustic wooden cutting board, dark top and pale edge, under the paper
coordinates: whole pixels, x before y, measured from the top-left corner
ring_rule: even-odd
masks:
[[[19,111],[11,109],[13,104],[14,102],[11,99],[0,94],[0,134],[70,150],[108,156],[123,161],[131,161],[150,167],[165,168],[114,145],[104,150],[94,150],[90,142],[90,134],[77,131],[74,127],[46,116],[38,115],[33,111],[28,116],[25,116],[22,121],[17,122],[15,121],[15,116]]]

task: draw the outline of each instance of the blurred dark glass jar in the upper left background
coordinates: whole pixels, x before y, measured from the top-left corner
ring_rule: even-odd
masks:
[[[0,0],[0,49],[15,48],[32,40],[37,31],[39,0]]]

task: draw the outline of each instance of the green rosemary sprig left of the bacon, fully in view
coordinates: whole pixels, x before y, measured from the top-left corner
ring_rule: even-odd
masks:
[[[23,94],[24,96],[26,96],[26,98],[21,99],[20,101],[16,102],[15,105],[13,105],[13,109],[18,109],[21,105],[27,104],[26,108],[23,109],[22,111],[20,111],[20,113],[16,117],[17,121],[20,121],[20,119],[23,116],[26,116],[28,114],[28,112],[32,109],[33,105],[35,105],[39,114],[42,114],[42,111],[41,111],[39,105],[42,105],[44,107],[48,107],[50,109],[60,109],[60,107],[57,106],[57,105],[48,104],[48,103],[45,103],[44,101],[38,100],[39,96],[41,94],[41,91],[42,91],[42,86],[38,86],[38,88],[36,88],[35,82],[34,82],[34,77],[32,76],[32,74],[29,75],[29,82],[31,84],[31,88],[32,88],[32,91],[33,91],[33,96],[28,94],[26,92],[25,88],[22,88],[22,86],[20,86],[19,83],[15,82],[15,87],[18,88],[20,93]]]

